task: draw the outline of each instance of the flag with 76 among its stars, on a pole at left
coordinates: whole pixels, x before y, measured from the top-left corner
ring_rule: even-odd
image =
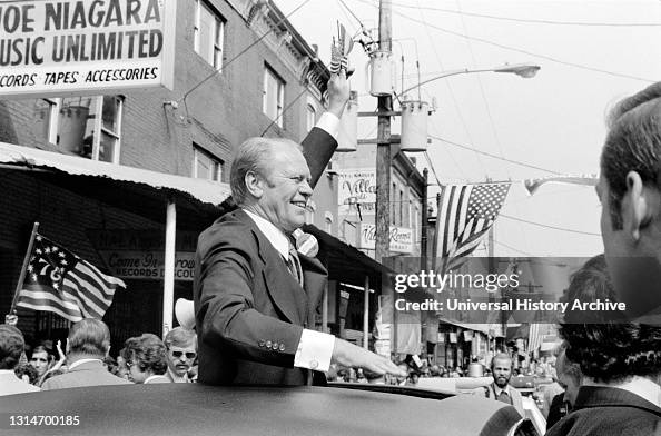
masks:
[[[37,234],[17,306],[53,311],[73,323],[101,319],[118,286],[126,288],[122,280]]]

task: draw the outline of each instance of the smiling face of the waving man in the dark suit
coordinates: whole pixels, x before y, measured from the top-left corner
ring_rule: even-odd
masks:
[[[310,174],[296,145],[278,145],[272,150],[262,175],[259,208],[270,222],[285,232],[305,224],[307,200],[313,194]]]

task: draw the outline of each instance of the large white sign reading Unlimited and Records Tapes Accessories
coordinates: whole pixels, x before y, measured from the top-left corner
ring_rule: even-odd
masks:
[[[0,3],[0,96],[174,87],[176,0]]]

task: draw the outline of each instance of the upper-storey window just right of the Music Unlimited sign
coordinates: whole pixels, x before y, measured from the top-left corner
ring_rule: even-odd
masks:
[[[195,51],[210,66],[223,68],[225,20],[204,0],[195,1]]]

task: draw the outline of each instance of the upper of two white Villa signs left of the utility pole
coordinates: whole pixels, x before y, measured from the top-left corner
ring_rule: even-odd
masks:
[[[356,168],[338,172],[337,204],[339,214],[359,205],[361,214],[374,214],[376,205],[376,169]]]

